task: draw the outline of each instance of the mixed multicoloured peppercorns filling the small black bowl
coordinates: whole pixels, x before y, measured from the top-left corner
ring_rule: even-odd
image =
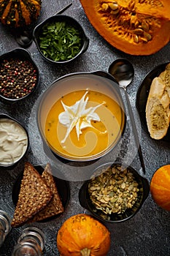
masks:
[[[25,97],[36,86],[37,76],[30,61],[4,59],[0,63],[0,94],[9,99]]]

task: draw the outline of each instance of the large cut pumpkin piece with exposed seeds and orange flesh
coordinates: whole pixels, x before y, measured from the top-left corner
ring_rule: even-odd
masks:
[[[80,0],[90,23],[115,48],[151,55],[170,40],[169,0]]]

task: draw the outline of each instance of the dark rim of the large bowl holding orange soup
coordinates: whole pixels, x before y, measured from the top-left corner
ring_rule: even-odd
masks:
[[[96,160],[96,159],[99,159],[101,157],[104,157],[106,154],[108,154],[110,151],[112,151],[113,148],[115,148],[115,146],[109,146],[109,149],[107,150],[104,150],[104,152],[101,154],[97,154],[95,157],[87,157],[87,158],[84,158],[82,159],[81,157],[80,158],[75,158],[75,157],[66,157],[64,156],[64,154],[57,154],[55,151],[53,151],[53,149],[48,145],[47,143],[47,140],[45,139],[45,136],[43,135],[43,132],[41,130],[41,127],[39,126],[39,108],[41,107],[42,105],[42,102],[43,102],[43,99],[45,98],[45,94],[47,94],[47,91],[49,91],[52,86],[56,86],[55,83],[58,83],[58,81],[64,79],[64,78],[72,78],[72,76],[77,76],[77,75],[96,75],[96,76],[99,76],[101,78],[107,78],[108,80],[111,80],[112,82],[115,83],[115,86],[114,89],[117,93],[117,97],[119,99],[119,103],[120,103],[120,108],[121,108],[121,112],[123,113],[123,119],[122,119],[122,124],[121,124],[121,135],[120,135],[120,138],[117,139],[117,142],[115,143],[115,146],[117,146],[117,143],[119,143],[120,139],[122,138],[123,136],[123,133],[125,132],[125,127],[126,127],[126,114],[125,114],[125,105],[124,105],[124,102],[123,102],[123,98],[122,98],[122,95],[120,93],[120,87],[117,83],[117,81],[115,80],[115,78],[112,77],[112,75],[110,75],[108,72],[105,72],[105,71],[94,71],[94,72],[74,72],[74,73],[70,73],[70,74],[67,74],[67,75],[63,75],[61,78],[58,78],[57,80],[53,81],[53,83],[51,83],[50,87],[48,87],[42,94],[41,96],[39,97],[39,102],[37,104],[37,107],[36,107],[36,124],[37,124],[37,128],[38,128],[38,131],[39,131],[39,135],[40,137],[42,138],[42,142],[45,143],[45,146],[48,146],[50,148],[50,151],[52,151],[52,153],[56,156],[56,157],[61,157],[61,159],[63,160],[68,160],[68,161],[72,161],[72,162],[90,162],[90,161],[93,161],[93,160]]]

